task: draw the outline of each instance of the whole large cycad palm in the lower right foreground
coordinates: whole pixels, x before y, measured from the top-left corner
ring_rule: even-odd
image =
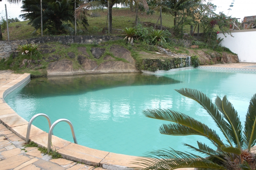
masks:
[[[217,96],[214,104],[204,93],[195,89],[176,89],[176,91],[199,103],[212,117],[226,141],[220,139],[215,130],[186,114],[169,109],[148,109],[143,111],[146,117],[173,122],[163,124],[159,128],[161,134],[201,135],[208,138],[217,149],[198,141],[198,148],[184,144],[192,150],[205,154],[206,158],[173,149],[153,151],[149,153],[151,158],[140,159],[138,164],[143,167],[137,169],[172,170],[189,167],[220,170],[256,169],[256,157],[252,153],[252,148],[256,143],[256,94],[250,101],[243,130],[239,116],[227,96],[224,96],[222,100]]]

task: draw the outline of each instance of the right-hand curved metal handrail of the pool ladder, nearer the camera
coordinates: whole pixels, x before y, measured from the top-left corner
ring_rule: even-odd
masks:
[[[73,127],[73,124],[71,123],[71,121],[69,121],[67,119],[59,119],[59,120],[56,120],[54,123],[52,123],[52,126],[49,129],[47,153],[49,153],[51,151],[52,130],[55,127],[55,125],[57,125],[59,122],[67,122],[68,123],[68,125],[71,128],[71,132],[72,132],[72,136],[73,136],[73,139],[74,139],[74,143],[78,144],[77,140],[76,140],[76,135],[75,135],[74,127]]]

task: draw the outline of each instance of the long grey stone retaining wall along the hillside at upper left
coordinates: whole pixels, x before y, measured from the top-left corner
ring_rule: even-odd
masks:
[[[119,40],[122,37],[119,36],[93,36],[93,35],[67,35],[67,36],[50,36],[50,37],[38,37],[26,40],[16,41],[0,41],[0,60],[2,58],[8,58],[16,50],[18,45],[26,43],[48,43],[48,42],[59,42],[62,44],[92,44],[106,42],[109,40]]]

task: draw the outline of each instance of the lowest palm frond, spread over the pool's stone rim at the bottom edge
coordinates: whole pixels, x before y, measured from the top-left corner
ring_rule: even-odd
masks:
[[[210,160],[194,155],[192,153],[184,153],[174,151],[173,149],[153,151],[148,154],[151,158],[137,159],[139,162],[135,164],[140,167],[136,169],[144,170],[172,170],[177,168],[206,168],[206,169],[221,169],[223,166],[213,163]],[[152,158],[153,157],[153,158]]]

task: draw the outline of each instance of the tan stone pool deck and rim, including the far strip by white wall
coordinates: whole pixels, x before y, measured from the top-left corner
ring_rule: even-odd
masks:
[[[252,68],[256,63],[217,64],[200,66],[204,69],[214,68]],[[256,69],[256,68],[252,68]],[[245,70],[246,71],[246,70]],[[256,71],[256,70],[255,70]],[[100,151],[63,140],[52,135],[52,149],[63,158],[52,159],[40,153],[35,147],[24,148],[28,121],[21,118],[5,103],[4,97],[20,85],[30,81],[30,74],[14,74],[12,71],[0,71],[0,169],[1,170],[124,170],[136,165],[139,157]],[[47,123],[47,120],[45,120]],[[31,126],[30,140],[39,147],[47,148],[48,133]],[[25,150],[24,150],[25,149]],[[77,163],[82,162],[83,164]],[[180,170],[193,170],[181,168]]]

